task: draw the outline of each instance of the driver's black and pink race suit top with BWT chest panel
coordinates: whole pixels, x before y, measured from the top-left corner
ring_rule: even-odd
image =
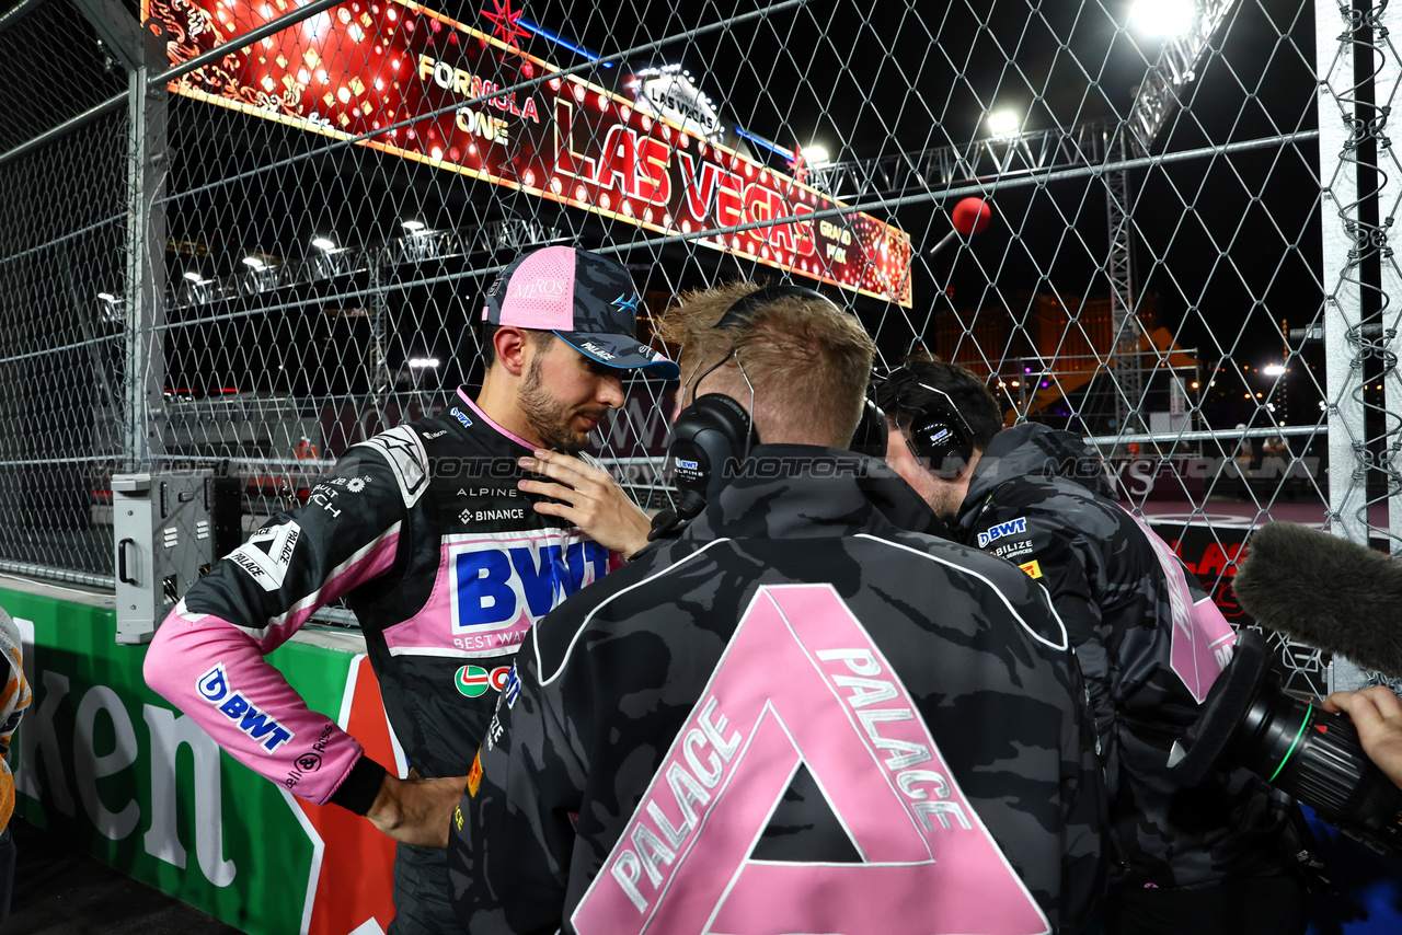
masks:
[[[342,791],[360,744],[264,660],[345,597],[409,765],[464,775],[527,628],[610,561],[516,489],[531,447],[461,390],[439,415],[353,446],[306,506],[189,589],[151,642],[147,683],[254,771],[363,812],[373,789]],[[360,775],[377,789],[383,772]]]

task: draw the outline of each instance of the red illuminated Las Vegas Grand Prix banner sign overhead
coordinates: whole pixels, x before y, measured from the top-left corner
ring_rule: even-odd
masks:
[[[408,0],[350,0],[236,48],[287,0],[143,0],[171,64],[229,55],[170,90],[520,189],[768,266],[911,306],[910,237],[843,209],[638,101]],[[515,90],[506,90],[515,88]]]

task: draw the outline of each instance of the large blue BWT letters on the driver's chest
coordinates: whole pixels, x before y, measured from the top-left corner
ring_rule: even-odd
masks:
[[[502,629],[524,610],[540,620],[559,601],[608,571],[599,542],[472,547],[451,557],[457,614],[453,632]]]

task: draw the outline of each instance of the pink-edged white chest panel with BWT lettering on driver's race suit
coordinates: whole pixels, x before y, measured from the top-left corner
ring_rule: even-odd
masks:
[[[537,620],[608,571],[608,550],[559,530],[499,533],[450,542],[453,645],[510,652]]]

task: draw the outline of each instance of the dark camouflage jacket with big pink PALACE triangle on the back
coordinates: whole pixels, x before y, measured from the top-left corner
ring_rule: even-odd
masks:
[[[1046,599],[903,527],[880,461],[760,446],[527,635],[449,844],[474,935],[1077,931],[1094,725]]]

